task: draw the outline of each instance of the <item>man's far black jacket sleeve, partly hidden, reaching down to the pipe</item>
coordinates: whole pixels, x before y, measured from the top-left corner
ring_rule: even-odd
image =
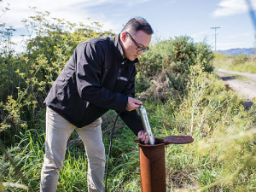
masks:
[[[127,82],[125,85],[124,90],[122,90],[122,93],[126,96],[135,97],[135,77],[136,77],[137,71],[134,67],[134,71],[131,75],[131,79]],[[120,118],[125,122],[125,124],[131,129],[131,131],[134,132],[134,134],[137,136],[137,133],[139,131],[143,131],[143,122],[141,117],[138,115],[137,110],[133,110],[131,112],[126,111],[125,113],[120,113]]]

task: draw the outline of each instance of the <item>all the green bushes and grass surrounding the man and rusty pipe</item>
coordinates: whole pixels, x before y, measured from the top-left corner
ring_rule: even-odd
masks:
[[[114,35],[102,32],[98,23],[72,24],[51,19],[49,13],[38,13],[24,23],[36,33],[29,33],[26,51],[15,55],[11,46],[1,49],[0,191],[26,191],[26,187],[38,191],[44,158],[44,98],[77,44]],[[9,36],[3,40],[11,44]],[[154,136],[190,135],[195,139],[194,143],[166,147],[167,191],[256,190],[255,105],[248,111],[243,108],[242,98],[212,73],[212,61],[207,44],[177,37],[153,44],[137,66],[137,96],[144,99]],[[102,117],[106,151],[115,116],[109,111]],[[108,191],[140,191],[135,139],[119,121],[113,136]],[[73,132],[57,191],[87,191],[86,167],[83,144]]]

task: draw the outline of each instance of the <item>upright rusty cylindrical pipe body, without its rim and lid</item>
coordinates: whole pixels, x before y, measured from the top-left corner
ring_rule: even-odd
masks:
[[[140,146],[143,192],[166,192],[165,143]]]

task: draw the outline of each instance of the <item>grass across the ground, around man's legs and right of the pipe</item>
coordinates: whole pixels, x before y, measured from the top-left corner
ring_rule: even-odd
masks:
[[[166,147],[166,190],[255,190],[255,106],[245,110],[242,98],[226,90],[213,73],[202,73],[200,67],[195,67],[191,68],[190,76],[188,95],[181,101],[170,93],[166,102],[143,102],[155,137],[190,135],[195,139],[194,143]],[[102,117],[106,151],[115,116],[109,111]],[[3,182],[22,183],[30,191],[38,191],[44,158],[44,117],[38,122],[39,129],[20,133],[20,143],[8,148],[26,181],[15,175],[14,167],[2,156]],[[71,139],[74,138],[75,132]],[[113,136],[108,191],[140,191],[139,148],[135,139],[119,120]],[[86,174],[84,148],[79,143],[68,143],[57,191],[87,191]]]

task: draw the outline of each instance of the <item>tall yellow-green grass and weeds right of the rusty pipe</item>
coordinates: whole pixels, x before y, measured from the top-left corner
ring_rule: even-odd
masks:
[[[155,135],[195,138],[194,143],[166,148],[168,190],[254,190],[255,106],[246,111],[242,98],[226,90],[214,74],[199,67],[191,70],[183,102],[176,105],[170,99],[154,107],[156,115],[151,112],[154,122],[162,124],[154,127]]]

